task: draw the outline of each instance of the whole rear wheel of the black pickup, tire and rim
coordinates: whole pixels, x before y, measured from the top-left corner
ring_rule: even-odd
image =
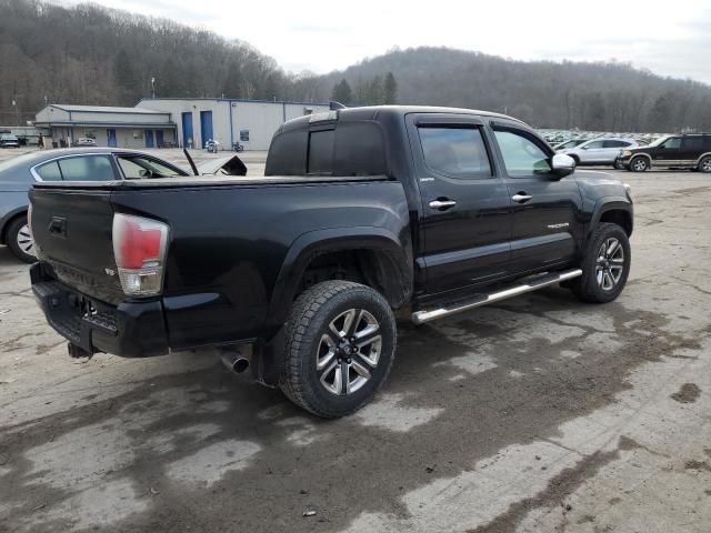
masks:
[[[280,389],[300,408],[337,419],[365,405],[388,378],[395,320],[373,289],[326,281],[299,295],[286,340]]]

